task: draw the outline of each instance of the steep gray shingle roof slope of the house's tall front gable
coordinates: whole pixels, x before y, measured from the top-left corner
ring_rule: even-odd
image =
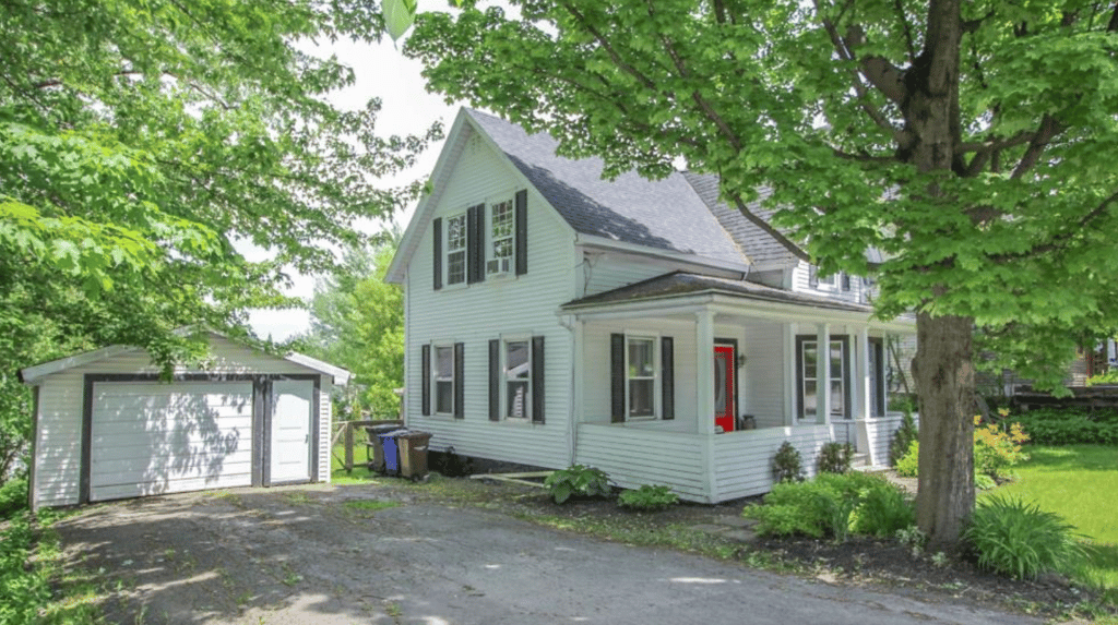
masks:
[[[467,113],[577,232],[748,262],[683,174],[650,181],[629,172],[614,181],[603,180],[600,158],[557,156],[558,143],[547,133],[529,135],[499,117]]]

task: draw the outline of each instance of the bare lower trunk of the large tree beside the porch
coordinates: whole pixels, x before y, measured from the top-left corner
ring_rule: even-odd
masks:
[[[974,511],[975,372],[969,317],[917,317],[912,374],[920,398],[917,525],[932,549],[951,549]]]

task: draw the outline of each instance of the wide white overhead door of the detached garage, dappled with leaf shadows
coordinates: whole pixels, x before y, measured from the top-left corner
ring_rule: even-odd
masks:
[[[92,501],[253,483],[250,382],[98,382],[92,407]]]

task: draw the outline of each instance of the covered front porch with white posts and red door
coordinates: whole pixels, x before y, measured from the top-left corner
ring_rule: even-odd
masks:
[[[565,307],[576,337],[572,462],[702,502],[770,490],[785,441],[808,473],[833,441],[888,462],[900,414],[887,410],[885,345],[911,321],[739,281],[702,278],[681,292],[679,276],[664,277],[675,278],[666,294]]]

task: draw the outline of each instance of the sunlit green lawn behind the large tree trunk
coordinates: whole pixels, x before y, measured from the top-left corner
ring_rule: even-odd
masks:
[[[1035,501],[1076,526],[1092,546],[1086,570],[1076,577],[1105,586],[1118,597],[1118,448],[1027,446],[1020,479],[989,492]]]

